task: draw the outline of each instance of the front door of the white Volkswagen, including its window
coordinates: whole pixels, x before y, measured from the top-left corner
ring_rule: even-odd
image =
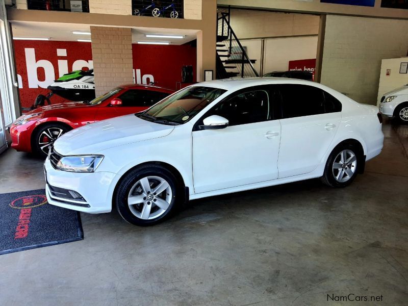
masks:
[[[274,92],[266,86],[233,93],[195,124],[192,132],[196,193],[277,179],[281,124],[273,120]],[[200,130],[202,120],[219,115],[225,129]]]

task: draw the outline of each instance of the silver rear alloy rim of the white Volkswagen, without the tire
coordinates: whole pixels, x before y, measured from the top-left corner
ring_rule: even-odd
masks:
[[[344,183],[351,179],[357,166],[357,157],[351,150],[342,150],[333,162],[333,175],[337,182]]]

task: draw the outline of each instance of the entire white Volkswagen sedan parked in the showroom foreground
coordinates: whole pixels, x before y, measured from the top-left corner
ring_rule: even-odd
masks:
[[[115,207],[130,223],[155,224],[188,199],[313,177],[347,186],[383,140],[374,106],[317,83],[199,83],[143,113],[64,134],[45,161],[46,195],[56,206]]]

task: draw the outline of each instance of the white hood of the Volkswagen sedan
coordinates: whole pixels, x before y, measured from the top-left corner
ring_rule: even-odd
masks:
[[[126,143],[167,136],[173,125],[146,121],[134,114],[98,121],[72,130],[54,143],[61,155],[96,154]]]

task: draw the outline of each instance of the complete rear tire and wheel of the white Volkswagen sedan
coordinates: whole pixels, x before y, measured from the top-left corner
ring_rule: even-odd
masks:
[[[354,145],[339,145],[328,157],[320,180],[330,187],[346,187],[354,181],[360,162],[359,150]]]

